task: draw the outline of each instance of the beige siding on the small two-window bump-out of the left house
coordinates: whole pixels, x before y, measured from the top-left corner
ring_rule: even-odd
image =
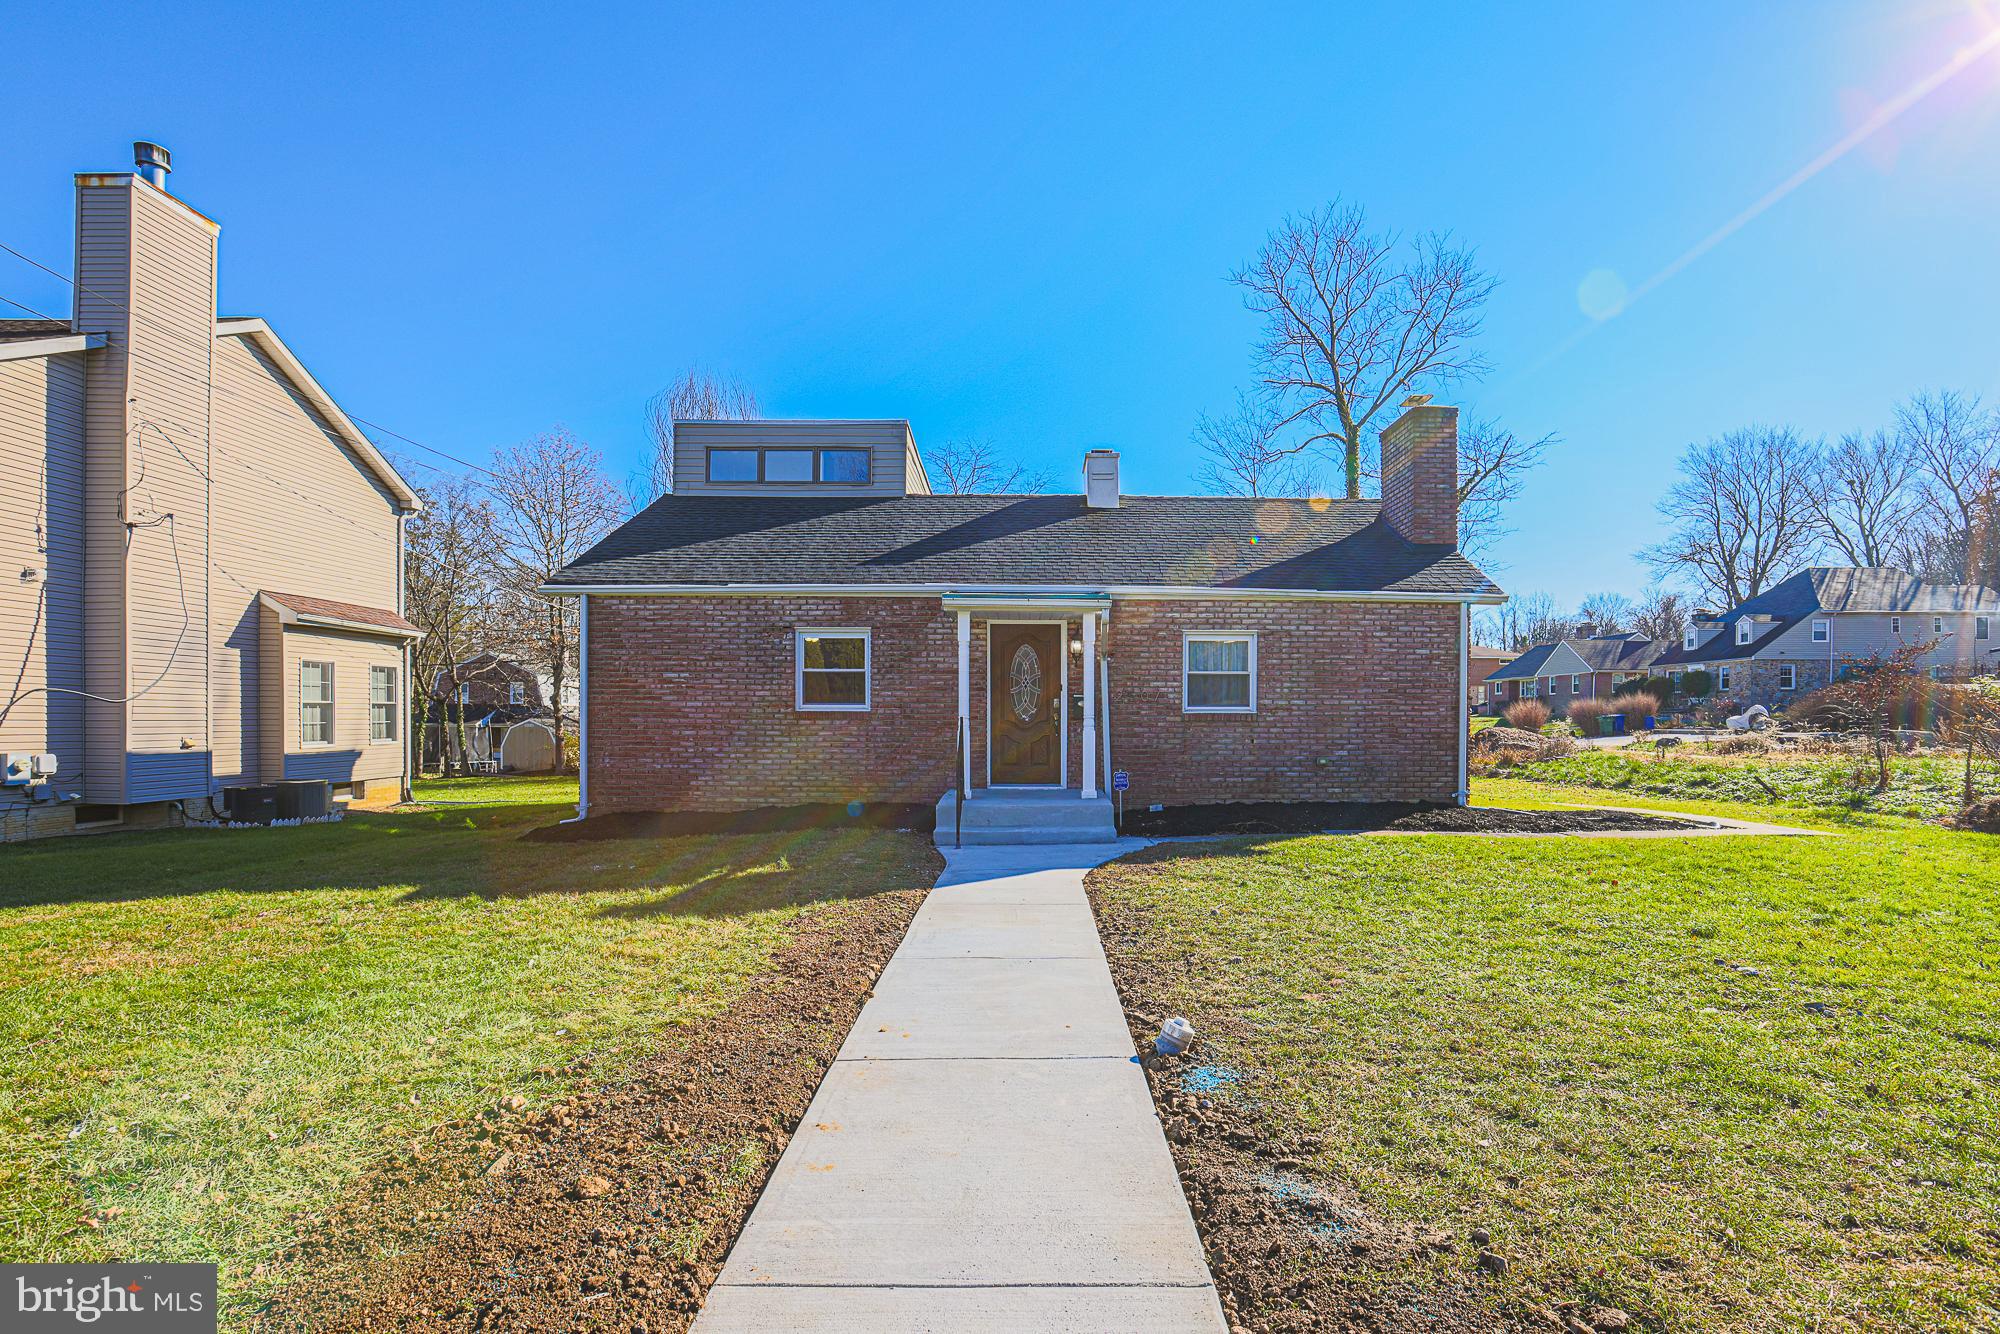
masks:
[[[280,778],[324,778],[328,782],[354,782],[356,778],[394,778],[402,774],[402,728],[408,726],[408,682],[402,680],[400,640],[382,640],[368,634],[342,634],[338,630],[308,630],[304,626],[278,626],[272,612],[264,612],[266,634],[280,638],[278,662],[282,670],[276,682],[268,682],[260,730],[266,756],[276,764],[266,770],[264,782]],[[298,708],[298,668],[302,662],[330,662],[334,668],[334,740],[330,746],[306,746],[300,740]],[[368,740],[368,668],[386,666],[396,670],[396,740]]]

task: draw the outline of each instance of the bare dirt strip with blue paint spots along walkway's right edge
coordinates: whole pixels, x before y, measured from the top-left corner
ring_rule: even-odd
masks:
[[[1134,946],[1152,938],[1148,914],[1108,906],[1100,894],[1108,874],[1118,874],[1116,862],[1084,884],[1132,1040],[1148,1052],[1146,1080],[1232,1330],[1488,1334],[1546,1330],[1562,1318],[1494,1300],[1482,1266],[1504,1260],[1482,1250],[1486,1238],[1472,1224],[1390,1222],[1314,1170],[1320,1140],[1266,1118],[1254,1080],[1210,1064],[1244,1036],[1236,1016],[1190,1014],[1198,1034],[1190,1054],[1150,1056],[1186,974],[1174,960],[1138,958]]]

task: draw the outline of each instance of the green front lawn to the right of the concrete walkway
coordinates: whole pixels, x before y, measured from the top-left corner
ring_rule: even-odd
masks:
[[[1206,1062],[1324,1132],[1316,1166],[1384,1214],[1488,1224],[1522,1302],[1668,1330],[1996,1328],[2000,844],[1476,788],[1534,798],[1832,836],[1234,840],[1094,890],[1146,926]]]

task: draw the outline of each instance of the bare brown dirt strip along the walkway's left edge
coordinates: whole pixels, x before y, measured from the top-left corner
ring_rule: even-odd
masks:
[[[614,1082],[440,1126],[316,1220],[260,1328],[688,1328],[922,898],[816,906]]]

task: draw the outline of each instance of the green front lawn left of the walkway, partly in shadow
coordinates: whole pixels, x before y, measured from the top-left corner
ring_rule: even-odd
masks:
[[[716,1012],[804,906],[930,880],[912,836],[546,844],[574,782],[418,796],[468,804],[0,850],[0,1258],[214,1258],[240,1302],[386,1150]]]

